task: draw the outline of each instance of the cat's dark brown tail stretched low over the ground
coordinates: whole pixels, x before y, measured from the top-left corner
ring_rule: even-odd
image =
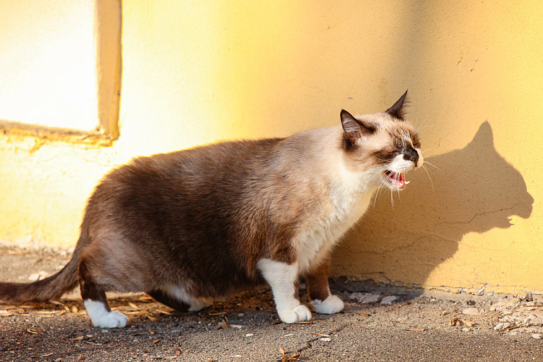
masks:
[[[44,302],[59,299],[64,293],[73,290],[78,283],[81,253],[88,243],[84,234],[81,232],[74,254],[61,271],[33,283],[0,282],[0,300],[7,303]]]

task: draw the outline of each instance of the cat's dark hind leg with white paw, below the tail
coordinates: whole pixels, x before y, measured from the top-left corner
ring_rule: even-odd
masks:
[[[127,325],[128,317],[111,310],[105,291],[95,283],[84,262],[79,264],[79,286],[85,309],[95,327],[122,328]]]

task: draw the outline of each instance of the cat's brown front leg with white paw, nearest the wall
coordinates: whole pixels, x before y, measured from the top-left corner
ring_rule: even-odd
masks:
[[[331,259],[326,258],[317,267],[313,267],[310,272],[305,274],[311,305],[320,314],[338,313],[344,307],[343,300],[330,293],[328,276],[331,265]]]

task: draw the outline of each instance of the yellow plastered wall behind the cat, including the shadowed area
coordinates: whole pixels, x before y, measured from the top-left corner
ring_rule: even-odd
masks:
[[[382,194],[334,273],[543,291],[541,1],[200,3],[123,1],[112,147],[0,136],[4,243],[74,245],[93,186],[134,156],[337,124],[409,88],[431,180]]]

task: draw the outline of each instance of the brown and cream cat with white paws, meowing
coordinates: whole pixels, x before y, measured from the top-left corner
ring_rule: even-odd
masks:
[[[88,199],[64,269],[31,284],[0,283],[9,303],[57,299],[79,284],[93,325],[124,327],[105,291],[146,292],[181,311],[267,282],[287,323],[344,308],[328,285],[331,254],[379,187],[404,189],[424,163],[404,120],[407,92],[385,112],[286,138],[225,141],[134,158]]]

